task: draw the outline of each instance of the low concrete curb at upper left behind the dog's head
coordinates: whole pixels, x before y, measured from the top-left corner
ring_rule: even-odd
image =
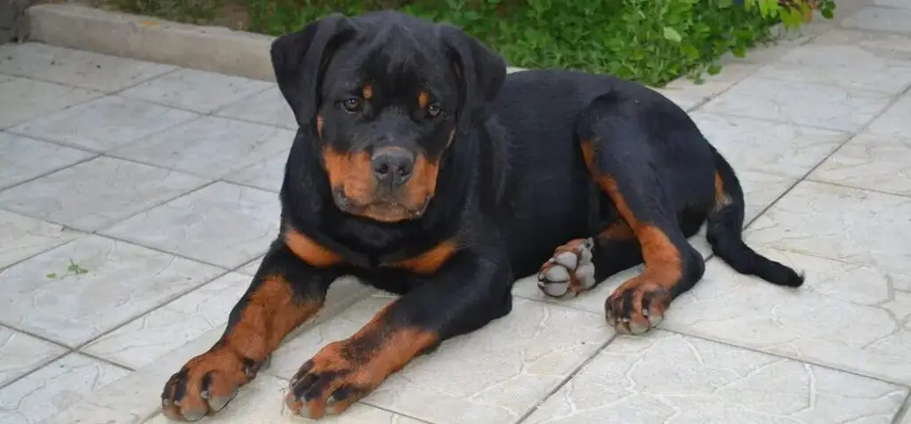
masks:
[[[274,37],[270,35],[179,24],[72,4],[35,5],[26,14],[28,38],[48,45],[275,80],[269,58]]]

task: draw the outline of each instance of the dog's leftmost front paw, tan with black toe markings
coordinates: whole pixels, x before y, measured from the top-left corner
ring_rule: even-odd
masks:
[[[268,366],[239,358],[230,349],[213,348],[192,358],[171,376],[161,392],[161,412],[169,419],[197,421],[223,409],[238,389]]]

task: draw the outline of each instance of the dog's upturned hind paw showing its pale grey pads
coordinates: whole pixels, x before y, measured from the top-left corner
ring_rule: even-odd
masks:
[[[557,247],[537,273],[537,288],[551,298],[575,297],[595,287],[595,266],[591,263],[594,240],[578,238]]]

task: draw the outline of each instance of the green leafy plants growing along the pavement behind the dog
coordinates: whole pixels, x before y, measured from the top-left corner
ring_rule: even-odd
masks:
[[[230,0],[108,0],[128,11],[216,14]],[[745,1],[745,3],[744,3]],[[175,7],[160,7],[162,4]],[[717,73],[718,58],[742,56],[772,40],[770,28],[804,22],[811,9],[831,17],[834,0],[233,0],[249,29],[281,35],[322,15],[397,8],[460,25],[511,66],[609,73],[653,86],[682,75]],[[208,7],[208,9],[206,8]],[[176,9],[179,8],[179,11]],[[156,9],[156,10],[150,10]],[[189,10],[188,10],[189,9]],[[179,16],[175,16],[179,15]]]

